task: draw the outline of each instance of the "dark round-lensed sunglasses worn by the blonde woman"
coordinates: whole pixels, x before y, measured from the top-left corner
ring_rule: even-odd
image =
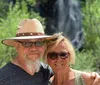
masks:
[[[47,58],[50,58],[52,60],[55,60],[58,58],[58,56],[61,58],[61,59],[66,59],[69,57],[69,52],[60,52],[60,53],[57,53],[57,52],[50,52],[47,54]]]

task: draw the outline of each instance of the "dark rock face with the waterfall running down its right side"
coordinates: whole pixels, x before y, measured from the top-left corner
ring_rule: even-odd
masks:
[[[75,0],[37,0],[40,15],[46,18],[46,34],[63,32],[73,45],[83,44],[82,13]]]

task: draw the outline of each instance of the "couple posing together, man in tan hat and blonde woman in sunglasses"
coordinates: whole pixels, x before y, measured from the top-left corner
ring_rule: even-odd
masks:
[[[97,73],[69,67],[75,62],[70,41],[61,34],[45,35],[37,19],[22,20],[16,37],[2,43],[15,47],[18,55],[0,69],[0,85],[100,85]]]

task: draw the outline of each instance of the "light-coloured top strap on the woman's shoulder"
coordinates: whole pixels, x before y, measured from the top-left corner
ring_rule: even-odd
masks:
[[[75,85],[85,85],[81,71],[75,71]]]

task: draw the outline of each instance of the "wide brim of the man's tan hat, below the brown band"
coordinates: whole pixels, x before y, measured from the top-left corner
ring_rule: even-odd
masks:
[[[21,36],[21,37],[13,37],[13,38],[9,38],[9,39],[5,39],[2,40],[2,43],[8,46],[14,46],[14,42],[16,42],[17,40],[30,40],[30,39],[43,39],[43,40],[52,40],[55,39],[55,37],[53,36],[48,36],[48,35],[42,35],[42,36]]]

